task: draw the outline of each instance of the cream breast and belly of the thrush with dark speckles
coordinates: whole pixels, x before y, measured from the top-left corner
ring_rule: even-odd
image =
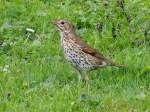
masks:
[[[62,45],[64,49],[64,57],[73,66],[82,70],[90,70],[97,67],[97,65],[92,63],[93,57],[85,54],[78,44],[63,39]]]

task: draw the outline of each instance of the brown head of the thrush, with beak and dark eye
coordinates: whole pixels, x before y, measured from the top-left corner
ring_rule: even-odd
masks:
[[[57,26],[60,32],[73,32],[74,31],[74,26],[68,20],[60,19],[60,20],[52,21],[51,23]]]

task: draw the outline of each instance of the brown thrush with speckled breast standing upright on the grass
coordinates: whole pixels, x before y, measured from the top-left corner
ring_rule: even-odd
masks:
[[[97,49],[88,45],[77,33],[74,25],[67,19],[50,21],[60,33],[60,43],[65,59],[78,70],[79,80],[88,81],[87,73],[105,66],[124,67],[106,58]],[[84,75],[82,73],[84,72]]]

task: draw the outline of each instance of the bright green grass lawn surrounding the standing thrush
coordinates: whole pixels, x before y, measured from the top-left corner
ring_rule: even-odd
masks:
[[[149,6],[125,0],[123,11],[116,0],[0,0],[0,112],[150,112]],[[60,18],[128,67],[90,72],[87,93],[48,23]]]

